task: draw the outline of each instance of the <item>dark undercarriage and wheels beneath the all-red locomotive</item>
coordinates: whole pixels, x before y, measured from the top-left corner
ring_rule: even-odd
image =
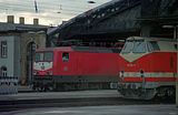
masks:
[[[110,88],[110,83],[118,81],[117,76],[46,76],[33,77],[33,88],[43,91],[76,91]]]

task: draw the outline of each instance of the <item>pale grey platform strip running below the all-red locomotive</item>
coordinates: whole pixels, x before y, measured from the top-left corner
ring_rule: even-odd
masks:
[[[21,92],[24,92],[22,90]],[[72,92],[30,92],[11,95],[0,95],[0,101],[55,100],[55,98],[88,98],[119,97],[117,90],[72,91]]]

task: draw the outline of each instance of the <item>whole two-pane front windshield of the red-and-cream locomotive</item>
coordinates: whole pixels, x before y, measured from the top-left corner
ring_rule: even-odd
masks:
[[[145,53],[146,42],[144,40],[128,40],[121,53]]]

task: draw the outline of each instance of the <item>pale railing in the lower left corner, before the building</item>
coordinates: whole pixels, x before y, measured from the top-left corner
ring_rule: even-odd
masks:
[[[0,76],[0,95],[17,94],[18,93],[18,77]]]

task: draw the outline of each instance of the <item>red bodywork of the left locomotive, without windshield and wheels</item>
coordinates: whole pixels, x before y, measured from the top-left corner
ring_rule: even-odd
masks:
[[[53,79],[53,82],[60,82],[59,84],[72,85],[83,82],[87,85],[107,83],[109,86],[110,83],[118,82],[120,55],[111,49],[63,46],[38,50],[36,54],[42,52],[43,55],[47,52],[52,53],[52,60],[34,61],[34,79],[48,77]]]

